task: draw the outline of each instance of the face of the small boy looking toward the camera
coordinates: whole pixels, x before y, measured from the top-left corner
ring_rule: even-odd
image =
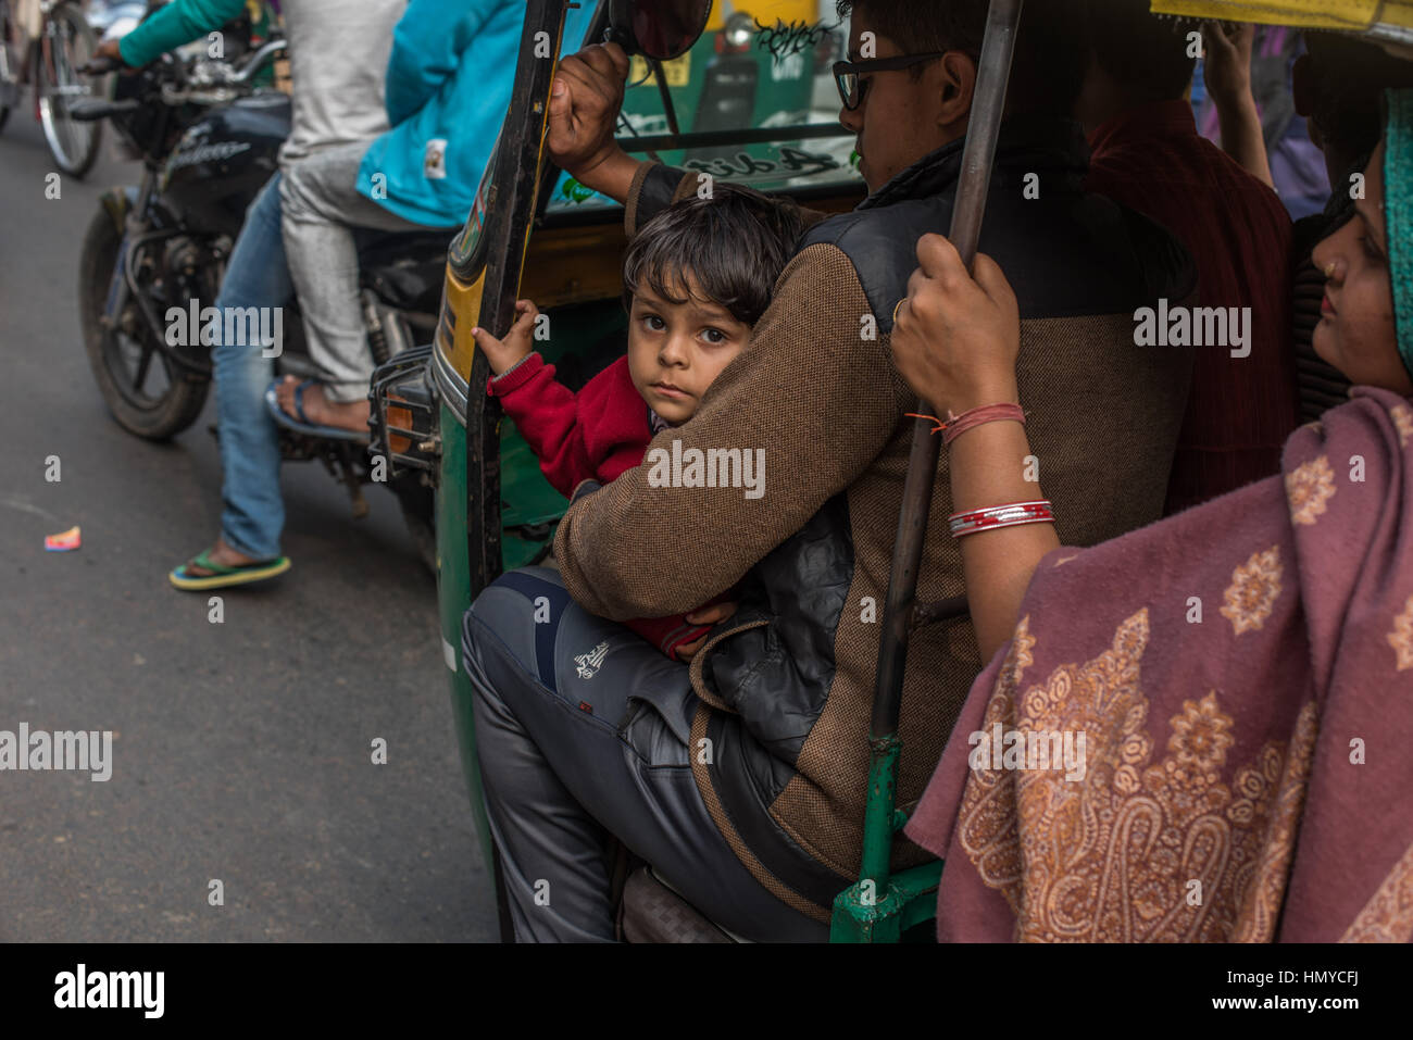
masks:
[[[673,425],[690,420],[702,394],[750,339],[750,326],[702,298],[697,283],[673,287],[685,304],[640,287],[627,322],[627,367],[644,401]]]

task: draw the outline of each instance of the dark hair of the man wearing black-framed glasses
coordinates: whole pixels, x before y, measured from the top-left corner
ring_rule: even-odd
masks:
[[[981,61],[989,0],[835,0],[839,18],[858,11],[869,28],[909,54],[962,51]],[[1078,0],[1031,0],[1020,16],[1006,92],[1007,114],[1068,117],[1084,83],[1084,17]],[[914,65],[913,76],[923,75]]]

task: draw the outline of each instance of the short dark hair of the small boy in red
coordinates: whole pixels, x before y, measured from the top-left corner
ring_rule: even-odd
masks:
[[[788,199],[714,181],[711,198],[674,202],[643,225],[623,257],[623,307],[633,309],[639,288],[685,304],[690,274],[699,297],[755,325],[803,233]]]

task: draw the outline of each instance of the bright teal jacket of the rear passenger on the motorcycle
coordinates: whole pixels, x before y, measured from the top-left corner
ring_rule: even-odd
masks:
[[[579,49],[595,6],[581,0],[568,11],[564,54]],[[411,0],[387,65],[393,129],[363,155],[359,192],[413,223],[466,219],[510,107],[524,8],[524,0]]]

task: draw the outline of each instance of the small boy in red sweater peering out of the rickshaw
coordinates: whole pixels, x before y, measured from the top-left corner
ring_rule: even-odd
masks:
[[[538,309],[516,304],[499,341],[472,329],[495,376],[486,391],[565,497],[584,480],[608,483],[643,461],[660,430],[685,422],[750,339],[804,230],[790,206],[718,182],[649,220],[623,259],[627,353],[575,394],[531,348]],[[684,660],[725,616],[708,605],[675,618],[626,622],[668,657]]]

